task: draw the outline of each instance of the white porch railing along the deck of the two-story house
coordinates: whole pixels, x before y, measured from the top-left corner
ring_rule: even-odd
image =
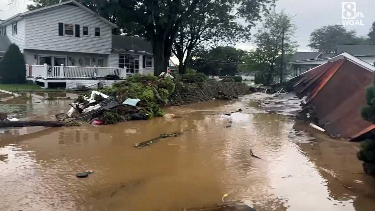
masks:
[[[120,78],[126,78],[126,67],[112,68],[112,67],[77,67],[77,66],[49,66],[46,63],[43,65],[28,65],[26,64],[26,76],[32,78],[82,78],[90,79],[96,77],[105,77],[107,75],[118,75]],[[129,74],[128,74],[129,75]]]

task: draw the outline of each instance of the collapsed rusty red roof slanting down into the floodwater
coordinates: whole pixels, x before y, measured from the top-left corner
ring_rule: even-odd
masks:
[[[336,137],[356,138],[375,128],[372,122],[362,119],[360,107],[366,104],[365,89],[372,83],[373,68],[353,57],[317,66],[293,78],[294,89],[306,96],[318,117],[318,125]]]

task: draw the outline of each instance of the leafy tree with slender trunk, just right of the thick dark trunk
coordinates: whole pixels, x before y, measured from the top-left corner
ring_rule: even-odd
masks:
[[[179,72],[184,73],[193,50],[201,44],[234,44],[248,39],[251,27],[269,12],[274,0],[228,0],[225,2],[201,0],[192,14],[180,25],[173,53],[180,61]],[[241,24],[240,19],[246,20]]]

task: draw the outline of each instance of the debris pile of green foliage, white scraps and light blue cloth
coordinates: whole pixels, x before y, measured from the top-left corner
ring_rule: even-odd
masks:
[[[93,125],[110,125],[164,116],[162,106],[168,102],[174,87],[171,77],[135,74],[112,87],[78,97],[66,115],[56,115],[56,118],[60,121],[74,119]]]

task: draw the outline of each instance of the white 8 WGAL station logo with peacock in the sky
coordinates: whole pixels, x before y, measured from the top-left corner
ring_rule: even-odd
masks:
[[[344,26],[365,26],[362,19],[365,15],[357,12],[356,2],[341,2],[341,18]]]

